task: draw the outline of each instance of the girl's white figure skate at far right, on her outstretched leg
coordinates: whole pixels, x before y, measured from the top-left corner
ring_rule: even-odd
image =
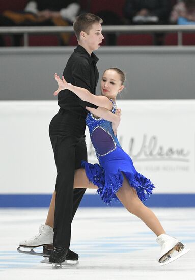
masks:
[[[164,233],[160,234],[156,241],[161,245],[158,257],[160,265],[169,264],[190,251],[190,249],[184,249],[185,246],[178,239]]]

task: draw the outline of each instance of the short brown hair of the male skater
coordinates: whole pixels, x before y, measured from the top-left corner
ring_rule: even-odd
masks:
[[[102,24],[103,20],[94,14],[86,13],[77,16],[76,20],[73,23],[73,29],[76,35],[77,40],[80,39],[80,32],[84,31],[89,34],[90,29],[94,23]]]

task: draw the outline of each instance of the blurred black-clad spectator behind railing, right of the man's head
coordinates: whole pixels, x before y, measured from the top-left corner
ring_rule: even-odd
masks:
[[[169,20],[169,0],[126,0],[124,16],[129,24],[166,24]],[[164,34],[154,35],[154,44],[163,45]]]

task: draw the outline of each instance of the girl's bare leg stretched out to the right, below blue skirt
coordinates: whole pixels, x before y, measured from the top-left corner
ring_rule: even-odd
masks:
[[[124,176],[123,186],[117,192],[117,197],[132,214],[139,217],[157,235],[165,233],[155,214],[138,198],[136,190],[131,187]]]

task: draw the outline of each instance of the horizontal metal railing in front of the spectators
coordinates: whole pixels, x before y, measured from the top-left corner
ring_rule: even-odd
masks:
[[[178,46],[182,46],[182,35],[184,32],[194,32],[195,25],[103,25],[103,33],[176,33],[178,34]],[[72,26],[25,26],[25,27],[0,27],[0,34],[23,34],[24,47],[29,46],[30,34],[58,34],[74,33]]]

